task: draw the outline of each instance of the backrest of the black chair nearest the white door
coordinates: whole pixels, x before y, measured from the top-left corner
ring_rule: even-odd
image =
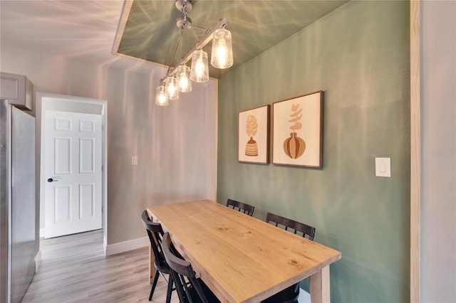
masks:
[[[147,230],[147,235],[149,236],[150,246],[152,246],[152,251],[154,252],[155,267],[157,267],[157,270],[160,272],[169,273],[170,267],[168,267],[165,255],[163,255],[162,252],[162,225],[157,222],[152,222],[147,215],[147,211],[142,212],[141,218],[142,224],[144,224],[144,227]]]

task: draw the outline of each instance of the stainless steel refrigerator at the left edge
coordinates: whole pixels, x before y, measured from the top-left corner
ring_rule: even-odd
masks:
[[[0,302],[20,302],[35,274],[35,118],[0,100]]]

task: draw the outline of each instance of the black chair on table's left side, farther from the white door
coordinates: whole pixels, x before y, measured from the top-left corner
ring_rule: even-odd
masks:
[[[169,233],[163,235],[163,254],[175,282],[180,303],[216,303],[220,302],[215,294],[196,277],[192,264],[184,260],[171,243]]]

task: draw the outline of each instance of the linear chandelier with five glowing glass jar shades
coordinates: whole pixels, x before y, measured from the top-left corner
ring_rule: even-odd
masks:
[[[174,59],[177,46],[179,45],[182,33],[190,28],[197,28],[206,32],[206,36],[197,42],[195,48],[192,48],[180,62],[172,67],[168,65],[165,78],[160,79],[155,96],[155,104],[160,106],[168,105],[168,100],[177,100],[180,92],[190,92],[192,90],[192,81],[204,83],[209,80],[209,65],[207,53],[204,46],[212,40],[211,65],[214,68],[229,68],[233,65],[233,50],[231,33],[227,30],[227,19],[221,18],[214,28],[202,28],[192,24],[187,14],[192,11],[192,0],[176,0],[176,9],[182,12],[182,16],[177,18],[177,28],[180,28],[179,38],[172,52]],[[187,62],[192,60],[191,68]]]

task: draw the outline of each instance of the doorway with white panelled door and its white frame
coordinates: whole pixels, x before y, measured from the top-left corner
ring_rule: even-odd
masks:
[[[40,238],[42,235],[49,237],[58,235],[46,230],[49,228],[48,225],[54,222],[65,224],[66,231],[62,234],[65,235],[78,233],[78,230],[81,230],[78,229],[81,228],[81,222],[78,222],[79,227],[73,228],[71,218],[90,219],[98,216],[99,218],[96,218],[100,220],[98,225],[94,225],[93,220],[87,220],[83,224],[88,224],[86,230],[92,230],[94,226],[95,229],[96,226],[103,228],[103,250],[106,253],[108,242],[107,103],[106,100],[36,92],[36,144],[38,146],[36,162],[39,166],[36,187],[39,188]],[[56,135],[52,133],[54,129],[67,132]],[[71,129],[75,130],[76,137],[71,134]],[[53,155],[52,159],[49,157],[50,154]],[[76,166],[71,166],[71,161],[76,161]],[[50,164],[51,170],[48,168]],[[58,166],[58,169],[55,166]],[[68,169],[65,171],[63,167]],[[96,171],[98,174],[96,182],[99,184],[88,181],[89,176],[92,175],[89,174],[90,171],[93,173]],[[63,182],[64,178],[73,180],[75,176],[82,178],[83,181],[76,181],[73,188],[68,186],[67,182]],[[61,182],[58,183],[58,181]],[[64,183],[66,185],[63,185]],[[78,191],[76,196],[73,195],[75,191]],[[49,193],[52,193],[52,201],[46,202],[49,198],[46,195],[49,196]],[[73,212],[72,203],[76,206]],[[51,211],[46,207],[51,207]],[[46,218],[49,216],[55,216],[55,218],[49,220]],[[55,225],[54,228],[56,226],[58,229],[60,225]]]

